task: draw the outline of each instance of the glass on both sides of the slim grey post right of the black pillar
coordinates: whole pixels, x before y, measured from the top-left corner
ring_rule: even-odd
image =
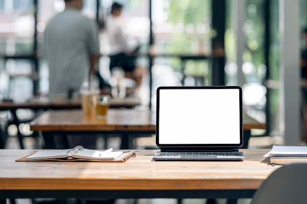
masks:
[[[231,0],[226,3],[226,84],[237,84],[238,67],[236,61],[237,57],[242,57],[244,108],[253,117],[266,121],[265,0],[245,1],[245,20],[242,27],[245,36],[243,56],[236,56],[236,44],[240,40],[235,36],[237,20],[234,12],[237,9],[235,8],[236,3]],[[256,134],[264,134],[264,132]]]

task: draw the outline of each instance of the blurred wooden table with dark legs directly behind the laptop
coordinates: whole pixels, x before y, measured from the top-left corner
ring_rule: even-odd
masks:
[[[155,113],[152,111],[109,110],[105,120],[84,118],[78,110],[48,111],[30,122],[32,131],[42,131],[47,148],[54,148],[52,135],[71,133],[155,134]],[[247,148],[251,129],[265,129],[265,124],[247,114],[243,115],[244,145]],[[122,149],[128,149],[128,135],[123,137]],[[50,145],[50,146],[49,146]]]

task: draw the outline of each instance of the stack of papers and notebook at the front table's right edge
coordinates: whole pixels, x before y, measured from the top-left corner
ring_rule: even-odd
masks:
[[[307,146],[276,146],[263,157],[270,157],[271,164],[307,162]]]

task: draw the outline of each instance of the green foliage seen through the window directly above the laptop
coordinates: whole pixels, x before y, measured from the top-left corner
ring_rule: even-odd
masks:
[[[211,0],[168,0],[167,23],[182,25],[182,32],[173,32],[170,39],[164,44],[164,52],[168,54],[193,55],[195,45],[200,41],[210,38],[212,31],[197,33],[195,31],[199,23],[210,24]],[[186,27],[193,27],[193,32],[186,32]],[[210,41],[208,41],[210,42]],[[178,59],[170,59],[170,66],[177,71],[181,70]],[[208,76],[209,63],[207,60],[189,60],[186,63],[184,73],[187,75]]]

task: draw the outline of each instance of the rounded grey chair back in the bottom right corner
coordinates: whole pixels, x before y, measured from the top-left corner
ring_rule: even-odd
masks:
[[[275,170],[256,191],[251,204],[306,204],[307,162]]]

